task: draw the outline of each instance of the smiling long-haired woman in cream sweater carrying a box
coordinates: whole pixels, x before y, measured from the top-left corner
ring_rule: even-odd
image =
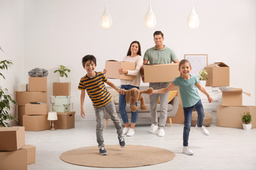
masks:
[[[136,66],[134,71],[126,70],[122,68],[118,70],[120,75],[126,74],[126,75],[135,76],[133,80],[120,80],[121,89],[125,89],[125,90],[130,90],[131,88],[139,89],[140,68],[142,67],[142,64],[143,64],[139,41],[131,42],[127,52],[127,56],[123,58],[123,61],[133,62],[136,64]],[[125,128],[123,129],[123,134],[127,135],[128,137],[131,137],[135,134],[134,127],[135,127],[135,124],[137,123],[138,110],[136,112],[131,112],[131,127],[129,127],[127,111],[125,109],[126,107],[125,96],[126,95],[121,95],[121,94],[119,95],[119,112],[123,120],[123,124],[125,124]],[[137,103],[135,104],[137,106]]]

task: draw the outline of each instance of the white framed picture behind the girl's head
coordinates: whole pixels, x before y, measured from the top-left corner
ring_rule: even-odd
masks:
[[[184,54],[184,59],[188,59],[192,70],[191,75],[200,77],[199,72],[207,66],[207,54]]]

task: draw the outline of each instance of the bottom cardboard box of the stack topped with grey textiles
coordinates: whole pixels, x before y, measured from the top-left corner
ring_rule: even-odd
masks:
[[[42,131],[50,129],[50,120],[48,115],[24,115],[23,126],[26,131]]]

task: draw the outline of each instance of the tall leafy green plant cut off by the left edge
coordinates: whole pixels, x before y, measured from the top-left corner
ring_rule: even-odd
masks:
[[[0,50],[1,47],[0,47]],[[3,51],[3,50],[2,50]],[[4,70],[12,66],[11,60],[3,60],[0,61],[0,69]],[[5,79],[5,76],[0,73],[0,76],[2,76]],[[11,114],[9,114],[9,110],[11,110],[11,103],[14,103],[17,105],[16,101],[12,99],[11,94],[9,94],[7,88],[2,88],[0,86],[0,127],[9,127],[9,123],[7,120],[16,120]]]

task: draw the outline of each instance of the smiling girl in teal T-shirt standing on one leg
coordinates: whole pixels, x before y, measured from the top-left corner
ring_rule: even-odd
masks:
[[[179,71],[181,76],[175,78],[173,82],[167,88],[161,88],[160,90],[154,90],[153,93],[166,93],[169,92],[175,86],[179,87],[181,95],[182,107],[184,110],[184,129],[183,129],[183,154],[193,155],[194,152],[188,147],[188,136],[191,127],[191,117],[193,109],[198,112],[198,123],[196,129],[201,131],[203,135],[209,135],[209,131],[203,126],[203,118],[205,116],[203,111],[203,105],[198,95],[197,88],[203,92],[209,103],[213,101],[209,93],[206,92],[205,88],[198,82],[198,78],[194,75],[190,75],[192,67],[187,59],[182,59],[179,63]],[[196,88],[197,87],[197,88]],[[150,93],[152,94],[152,93]]]

